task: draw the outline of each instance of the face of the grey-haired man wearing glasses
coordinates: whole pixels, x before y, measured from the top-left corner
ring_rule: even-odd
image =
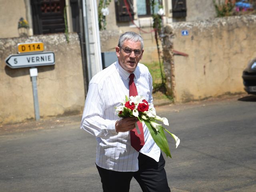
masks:
[[[118,57],[118,62],[121,65],[121,67],[129,73],[134,72],[136,66],[138,65],[138,62],[142,58],[144,50],[141,50],[140,45],[140,41],[133,42],[130,40],[126,40],[124,41],[122,48],[116,47],[116,55]],[[135,53],[134,51],[132,51],[129,54],[129,50],[135,50]],[[138,50],[141,51],[141,54],[138,54],[138,52],[140,52]]]

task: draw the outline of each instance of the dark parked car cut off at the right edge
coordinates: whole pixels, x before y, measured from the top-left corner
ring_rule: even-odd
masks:
[[[256,94],[256,58],[251,60],[243,71],[244,90],[248,94]]]

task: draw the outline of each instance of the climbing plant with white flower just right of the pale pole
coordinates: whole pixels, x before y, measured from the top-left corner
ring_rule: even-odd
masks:
[[[111,0],[100,0],[98,5],[99,30],[106,29],[106,15],[108,15],[108,5]]]

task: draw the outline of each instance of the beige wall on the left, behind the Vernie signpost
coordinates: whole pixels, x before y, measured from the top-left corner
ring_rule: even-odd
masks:
[[[53,51],[55,65],[38,66],[37,89],[41,117],[80,114],[85,91],[80,42],[77,34],[0,39],[0,124],[34,119],[34,102],[29,68],[9,68],[5,59],[17,53],[17,44],[44,43]]]

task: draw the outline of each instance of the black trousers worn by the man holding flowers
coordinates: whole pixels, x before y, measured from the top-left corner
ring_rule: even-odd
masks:
[[[143,192],[170,192],[166,172],[165,160],[160,155],[159,162],[139,153],[139,170],[136,172],[118,172],[97,166],[100,174],[103,192],[129,192],[130,182],[134,177]]]

